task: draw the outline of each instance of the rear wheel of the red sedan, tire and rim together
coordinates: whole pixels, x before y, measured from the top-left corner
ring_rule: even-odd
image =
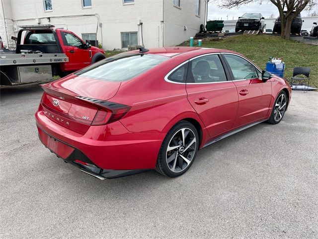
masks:
[[[165,136],[159,150],[156,170],[168,176],[178,177],[192,165],[199,147],[199,136],[192,123],[182,120]]]

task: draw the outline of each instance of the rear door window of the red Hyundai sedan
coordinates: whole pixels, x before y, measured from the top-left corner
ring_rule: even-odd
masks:
[[[227,81],[223,65],[217,54],[202,56],[190,62],[187,83]]]

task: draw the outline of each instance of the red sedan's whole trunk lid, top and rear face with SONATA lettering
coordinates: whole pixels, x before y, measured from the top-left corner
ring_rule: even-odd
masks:
[[[91,80],[79,76],[67,77],[41,85],[45,91],[41,106],[49,119],[83,134],[90,127],[98,106],[79,97],[108,100],[116,95],[120,84],[120,82]]]

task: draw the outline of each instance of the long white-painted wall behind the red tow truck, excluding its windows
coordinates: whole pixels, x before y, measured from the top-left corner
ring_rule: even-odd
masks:
[[[123,0],[92,0],[91,8],[82,8],[81,0],[52,0],[53,11],[48,12],[44,11],[43,0],[4,1],[12,6],[14,35],[19,29],[17,26],[37,24],[37,18],[40,24],[63,27],[79,37],[82,33],[95,33],[97,29],[97,40],[104,49],[112,50],[121,48],[121,32],[139,32],[138,43],[142,44],[140,19],[144,44],[147,47],[162,46],[161,0],[135,0],[133,4],[124,4]],[[0,33],[4,35],[4,31]]]

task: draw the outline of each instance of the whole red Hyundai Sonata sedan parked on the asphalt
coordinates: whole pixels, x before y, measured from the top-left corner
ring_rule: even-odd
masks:
[[[41,86],[41,142],[99,179],[180,176],[199,149],[279,123],[291,99],[284,79],[241,54],[197,47],[141,48]]]

